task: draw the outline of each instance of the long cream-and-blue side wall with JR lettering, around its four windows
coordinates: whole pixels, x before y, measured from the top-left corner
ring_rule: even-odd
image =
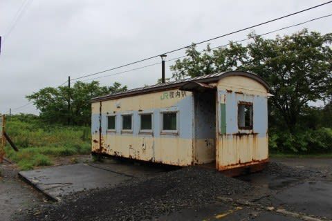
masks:
[[[177,90],[167,93],[170,91]],[[102,102],[102,153],[180,166],[192,164],[192,93],[167,99],[161,99],[162,95],[153,93]],[[153,134],[139,133],[139,113],[143,111],[154,114]],[[178,111],[178,135],[160,135],[160,111]],[[107,115],[114,113],[116,133],[107,133]],[[133,113],[133,133],[121,133],[122,113]],[[91,119],[92,131],[92,128],[99,128],[99,114],[93,114]],[[92,140],[98,138],[96,141],[99,141],[97,135],[99,133],[93,134]],[[93,151],[98,151],[95,148],[98,145],[93,142]]]

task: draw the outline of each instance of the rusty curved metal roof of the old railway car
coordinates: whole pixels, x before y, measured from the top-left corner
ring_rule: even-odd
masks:
[[[158,90],[178,88],[178,87],[183,86],[183,84],[186,84],[187,82],[192,82],[192,81],[196,81],[199,83],[213,82],[213,81],[218,81],[222,77],[227,77],[230,75],[241,75],[244,77],[250,77],[252,79],[256,79],[257,81],[259,81],[261,84],[263,84],[264,87],[266,87],[266,89],[269,88],[266,81],[264,81],[264,79],[262,79],[261,77],[259,77],[258,75],[254,74],[254,73],[249,73],[249,72],[244,72],[244,71],[228,71],[228,72],[223,72],[223,73],[216,73],[216,74],[211,74],[211,75],[202,75],[199,77],[180,79],[177,81],[171,81],[171,82],[166,82],[166,83],[161,83],[161,84],[154,84],[151,86],[145,86],[145,87],[141,87],[141,88],[133,88],[130,90],[126,90],[126,91],[118,92],[118,93],[112,93],[110,95],[106,95],[106,96],[102,96],[102,97],[95,97],[95,98],[91,99],[91,102],[99,102],[99,101],[109,100],[109,99],[118,99],[120,97],[129,97],[132,95],[138,95],[138,94],[142,94],[142,93],[151,93],[151,92],[158,91]]]

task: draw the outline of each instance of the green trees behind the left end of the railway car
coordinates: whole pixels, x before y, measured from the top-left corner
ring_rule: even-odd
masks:
[[[70,123],[73,125],[87,125],[91,121],[90,99],[124,90],[127,90],[127,86],[121,86],[118,82],[108,87],[100,86],[98,81],[91,83],[77,81],[72,88],[66,86],[42,88],[26,98],[33,101],[45,122],[67,124],[70,118]],[[68,111],[69,98],[70,111]]]

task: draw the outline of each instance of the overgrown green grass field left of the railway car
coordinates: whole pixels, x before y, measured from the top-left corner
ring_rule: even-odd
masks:
[[[6,146],[6,157],[20,170],[50,166],[56,157],[84,155],[91,152],[90,128],[59,126],[40,122],[37,117],[17,116],[7,121],[6,131],[19,148]]]

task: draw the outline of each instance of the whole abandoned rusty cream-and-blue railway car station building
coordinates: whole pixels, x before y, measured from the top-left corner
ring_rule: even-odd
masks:
[[[268,84],[241,71],[96,97],[92,153],[218,171],[268,162]]]

